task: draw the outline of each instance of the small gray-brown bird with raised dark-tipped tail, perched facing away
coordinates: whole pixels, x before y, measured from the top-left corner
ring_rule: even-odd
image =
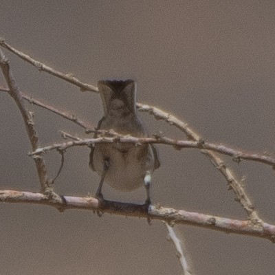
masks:
[[[102,98],[104,116],[97,129],[110,130],[122,135],[147,137],[135,109],[135,83],[133,80],[101,80],[98,89]],[[95,134],[95,137],[102,137]],[[129,192],[144,185],[146,203],[151,203],[150,184],[153,170],[159,167],[157,151],[152,144],[95,144],[91,147],[89,166],[100,175],[96,197],[102,197],[102,184]]]

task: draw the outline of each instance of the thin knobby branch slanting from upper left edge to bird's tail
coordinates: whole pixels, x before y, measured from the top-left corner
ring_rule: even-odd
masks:
[[[20,52],[19,50],[15,49],[11,45],[9,45],[8,43],[5,43],[4,39],[1,37],[0,37],[0,45],[2,47],[4,47],[5,49],[9,50],[10,52],[13,52],[14,54],[19,56],[24,61],[27,61],[28,63],[33,65],[34,67],[39,69],[39,71],[47,72],[49,74],[52,74],[53,76],[57,76],[58,78],[66,80],[67,82],[80,87],[81,91],[94,91],[94,92],[98,93],[97,87],[94,87],[93,85],[89,85],[87,83],[81,82],[80,80],[78,80],[77,78],[72,76],[72,74],[63,74],[62,72],[58,72],[56,69],[53,69],[52,67],[49,67],[39,61],[34,60],[27,54],[24,54],[23,52]]]

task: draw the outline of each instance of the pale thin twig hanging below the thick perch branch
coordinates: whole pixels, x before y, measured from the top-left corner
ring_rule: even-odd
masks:
[[[164,221],[166,229],[168,231],[168,241],[173,241],[175,249],[177,251],[177,257],[179,258],[179,263],[181,264],[182,271],[184,275],[194,275],[192,272],[190,264],[188,263],[188,257],[186,255],[186,250],[184,250],[184,245],[182,240],[177,237],[175,230]]]

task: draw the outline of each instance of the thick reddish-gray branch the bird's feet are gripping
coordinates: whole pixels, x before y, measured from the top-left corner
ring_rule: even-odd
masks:
[[[33,192],[21,192],[14,190],[1,190],[0,201],[9,203],[36,203],[54,206],[58,210],[86,209],[100,210],[109,214],[118,214],[128,217],[140,217],[166,221],[168,224],[194,225],[200,228],[208,228],[225,233],[242,234],[269,239],[274,242],[275,225],[269,223],[252,223],[252,221],[241,221],[216,217],[209,214],[176,210],[174,208],[155,207],[151,205],[138,205],[134,203],[121,203],[117,201],[100,202],[94,197],[69,197],[64,196],[64,201],[49,199],[46,195]]]

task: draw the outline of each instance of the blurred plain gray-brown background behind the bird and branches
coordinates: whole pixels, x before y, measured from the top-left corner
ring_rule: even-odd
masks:
[[[274,1],[2,1],[0,36],[61,72],[86,83],[133,78],[137,100],[173,113],[209,142],[274,152]],[[96,124],[100,96],[10,58],[22,91]],[[5,86],[3,76],[0,85]],[[39,191],[30,143],[12,98],[0,93],[1,190]],[[59,130],[86,136],[80,127],[30,106],[41,145],[61,141]],[[151,133],[183,133],[142,113]],[[226,181],[196,150],[157,146],[162,166],[153,177],[153,202],[245,219]],[[63,195],[94,194],[98,176],[89,149],[71,148],[56,181]],[[61,163],[45,156],[50,176]],[[225,163],[262,219],[274,223],[274,172],[252,162]],[[122,194],[104,186],[108,199],[142,203],[143,188]],[[0,204],[1,274],[181,274],[173,244],[160,221],[47,206]],[[196,274],[274,274],[274,244],[234,234],[178,226]]]

